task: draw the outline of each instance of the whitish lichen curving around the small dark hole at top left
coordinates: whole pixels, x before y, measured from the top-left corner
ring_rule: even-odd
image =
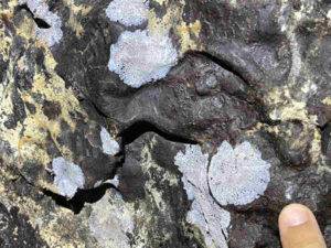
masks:
[[[45,21],[51,28],[42,29],[36,26],[35,35],[38,39],[53,46],[60,42],[63,36],[61,30],[62,21],[60,17],[49,10],[49,6],[43,0],[20,0],[20,4],[26,4],[34,18]]]

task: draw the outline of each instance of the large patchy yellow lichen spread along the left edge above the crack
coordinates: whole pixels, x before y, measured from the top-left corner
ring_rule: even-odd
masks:
[[[58,137],[62,133],[63,123],[70,131],[74,132],[77,121],[86,121],[85,111],[81,108],[79,101],[72,89],[66,88],[65,82],[56,74],[56,62],[47,46],[43,42],[34,39],[33,30],[35,23],[24,18],[17,26],[17,34],[23,40],[26,50],[42,50],[43,65],[29,64],[24,53],[20,57],[10,56],[10,50],[13,44],[8,39],[6,47],[0,44],[0,52],[3,57],[8,57],[8,69],[6,72],[6,82],[0,85],[0,140],[9,144],[12,158],[7,161],[15,161],[14,166],[22,169],[26,163],[33,163],[44,168],[44,172],[35,175],[35,185],[52,190],[54,186],[46,180],[46,169],[52,161],[52,154],[49,154],[47,147],[52,142],[60,153],[71,159],[72,151],[64,144],[58,143]],[[1,33],[1,32],[0,32]],[[2,33],[0,35],[3,35]],[[15,87],[14,75],[22,75],[33,66],[33,76],[30,88],[20,89]],[[31,72],[31,69],[29,71]],[[13,94],[18,94],[22,99],[25,116],[17,121],[15,127],[8,128],[6,121],[14,115]],[[43,111],[45,103],[55,103],[58,105],[58,116],[50,119]],[[28,105],[30,108],[28,108]],[[33,107],[33,111],[31,111]],[[67,131],[67,130],[66,130]]]

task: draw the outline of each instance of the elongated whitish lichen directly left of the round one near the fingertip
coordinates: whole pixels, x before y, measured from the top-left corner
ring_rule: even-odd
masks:
[[[207,247],[227,248],[227,227],[231,215],[221,208],[210,195],[207,185],[209,155],[199,145],[186,145],[179,152],[175,165],[182,172],[182,182],[189,200],[193,201],[186,220],[199,227]],[[222,235],[224,234],[224,235]]]

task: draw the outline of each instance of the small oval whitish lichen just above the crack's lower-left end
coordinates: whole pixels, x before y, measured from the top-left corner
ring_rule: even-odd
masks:
[[[58,193],[72,198],[77,188],[83,188],[85,176],[82,169],[73,162],[66,161],[60,157],[53,160],[52,171],[55,174],[54,184]]]

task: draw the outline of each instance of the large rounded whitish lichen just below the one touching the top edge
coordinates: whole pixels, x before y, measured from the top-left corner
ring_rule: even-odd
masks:
[[[125,84],[138,88],[167,76],[178,63],[178,52],[168,34],[148,31],[124,32],[110,46],[108,67]]]

